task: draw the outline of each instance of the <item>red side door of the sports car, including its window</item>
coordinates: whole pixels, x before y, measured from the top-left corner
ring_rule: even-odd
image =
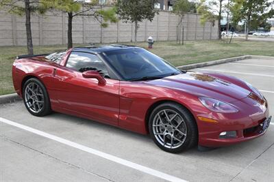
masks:
[[[100,85],[82,72],[97,70],[106,80]],[[62,109],[96,121],[117,125],[119,117],[119,80],[112,80],[105,63],[89,52],[71,52],[64,67],[57,67],[58,102]]]

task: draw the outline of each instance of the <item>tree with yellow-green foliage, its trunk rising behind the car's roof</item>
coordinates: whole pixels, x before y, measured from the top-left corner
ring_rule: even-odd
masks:
[[[41,0],[46,8],[60,10],[68,14],[68,48],[73,47],[73,18],[75,16],[93,16],[102,27],[108,26],[108,21],[117,22],[114,8],[103,10],[98,0],[89,2],[83,0]]]

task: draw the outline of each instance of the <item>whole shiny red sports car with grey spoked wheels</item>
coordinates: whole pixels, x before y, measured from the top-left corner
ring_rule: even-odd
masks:
[[[53,110],[149,134],[171,153],[250,140],[271,121],[266,99],[249,83],[180,71],[135,46],[23,55],[14,61],[12,76],[32,115]]]

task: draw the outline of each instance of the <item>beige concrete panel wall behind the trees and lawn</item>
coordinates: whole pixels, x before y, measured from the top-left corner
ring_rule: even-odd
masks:
[[[205,26],[199,22],[197,14],[186,14],[183,20],[185,40],[210,40],[218,38],[217,26],[210,22]],[[177,29],[179,17],[171,12],[160,12],[152,22],[140,22],[138,41],[146,41],[148,36],[154,40],[176,40],[182,37],[182,29]],[[32,16],[32,38],[34,45],[66,44],[66,14],[47,13]],[[110,43],[130,42],[134,40],[134,25],[131,23],[111,23],[101,28],[92,17],[75,16],[73,18],[73,43]],[[25,17],[0,12],[0,46],[25,46]]]

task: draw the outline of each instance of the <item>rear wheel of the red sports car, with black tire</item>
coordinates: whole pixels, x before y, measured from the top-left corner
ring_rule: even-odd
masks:
[[[38,93],[36,95],[36,99],[34,98],[35,94],[32,93],[32,89],[27,89],[34,87],[35,89],[35,85],[36,85],[36,92],[38,90]],[[38,89],[40,88],[40,89]],[[27,91],[27,93],[29,93],[29,95],[31,95],[34,99],[30,98],[27,101],[27,97],[29,97],[29,95],[26,95],[25,92]],[[29,78],[29,80],[27,80],[25,82],[25,84],[23,85],[23,102],[25,104],[25,107],[27,108],[27,110],[29,111],[29,113],[31,113],[32,115],[36,116],[36,117],[44,117],[45,115],[49,115],[51,113],[51,102],[49,101],[49,94],[47,93],[47,89],[45,88],[45,86],[42,84],[42,82],[40,82],[40,80],[38,80],[37,78]],[[36,103],[34,103],[36,100]],[[40,102],[42,103],[38,103],[40,100]],[[29,107],[32,106],[32,104],[34,104],[35,106],[33,108]],[[39,104],[39,106],[38,106]],[[37,108],[37,111],[35,111]]]

